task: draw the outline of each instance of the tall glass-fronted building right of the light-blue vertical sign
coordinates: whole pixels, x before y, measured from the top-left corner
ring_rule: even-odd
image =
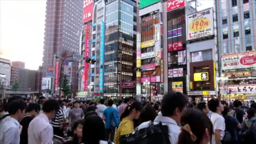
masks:
[[[106,0],[104,96],[133,96],[136,79],[136,1]]]

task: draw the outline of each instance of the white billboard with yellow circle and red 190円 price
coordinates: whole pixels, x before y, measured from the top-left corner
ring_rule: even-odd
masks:
[[[187,16],[187,40],[214,35],[213,8]]]

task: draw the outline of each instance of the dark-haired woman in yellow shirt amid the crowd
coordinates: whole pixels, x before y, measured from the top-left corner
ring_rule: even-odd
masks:
[[[142,105],[139,101],[134,101],[133,104],[126,107],[125,111],[120,116],[121,123],[115,133],[115,144],[120,144],[120,136],[133,132],[133,119],[137,120],[139,118],[141,109]]]

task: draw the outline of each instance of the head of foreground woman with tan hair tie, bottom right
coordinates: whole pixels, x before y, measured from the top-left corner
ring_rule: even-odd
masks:
[[[199,109],[188,108],[181,116],[178,144],[207,144],[213,134],[211,120]]]

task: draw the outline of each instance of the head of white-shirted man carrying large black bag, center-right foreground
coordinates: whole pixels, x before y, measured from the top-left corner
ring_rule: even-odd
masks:
[[[187,98],[180,92],[165,94],[161,101],[162,115],[172,117],[177,123],[180,123],[180,117],[186,108],[187,102]]]

